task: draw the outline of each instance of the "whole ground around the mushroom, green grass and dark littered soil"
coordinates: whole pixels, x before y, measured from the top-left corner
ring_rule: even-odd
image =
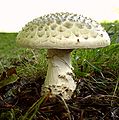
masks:
[[[43,120],[58,120],[61,116],[62,119],[67,116],[71,120],[73,116],[74,119],[81,119],[81,114],[92,119],[92,113],[98,114],[98,119],[105,119],[108,113],[103,111],[103,104],[109,106],[105,107],[105,111],[110,113],[113,112],[111,108],[118,108],[119,22],[104,22],[102,25],[111,37],[111,45],[72,52],[74,73],[76,81],[79,81],[74,93],[75,101],[72,99],[65,103],[59,97],[51,100],[58,108],[47,100],[48,96],[40,98],[38,95],[47,71],[46,50],[21,48],[15,43],[17,33],[0,33],[0,119],[37,120],[40,116]],[[44,106],[42,102],[45,102]],[[62,104],[64,107],[61,107]],[[54,115],[54,110],[66,112],[68,115]],[[90,113],[89,110],[93,112]],[[104,115],[101,116],[99,112]]]

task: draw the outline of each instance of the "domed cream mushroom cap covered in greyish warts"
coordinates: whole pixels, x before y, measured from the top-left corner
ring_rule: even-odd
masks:
[[[98,48],[110,44],[104,28],[91,18],[73,13],[41,16],[26,24],[17,43],[29,48]]]

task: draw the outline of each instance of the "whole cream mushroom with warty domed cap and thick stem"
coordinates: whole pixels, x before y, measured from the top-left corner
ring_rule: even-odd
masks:
[[[110,44],[110,38],[95,20],[73,13],[55,13],[29,22],[17,35],[23,47],[48,49],[48,70],[41,95],[62,95],[70,99],[76,83],[70,53],[78,48],[99,48]]]

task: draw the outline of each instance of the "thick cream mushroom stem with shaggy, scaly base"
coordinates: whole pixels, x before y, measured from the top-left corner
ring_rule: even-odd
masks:
[[[51,95],[60,94],[64,99],[71,98],[76,88],[70,60],[71,51],[69,49],[48,50],[48,71],[42,86],[42,95],[51,91]]]

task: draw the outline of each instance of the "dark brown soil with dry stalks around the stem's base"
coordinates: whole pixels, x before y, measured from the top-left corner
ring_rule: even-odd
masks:
[[[17,73],[14,71],[13,74]],[[77,78],[77,88],[70,100],[66,101],[60,95],[50,98],[49,93],[32,120],[119,120],[119,93],[112,93],[117,85],[114,79],[107,71],[103,76],[93,72],[86,78]],[[18,109],[15,116],[20,119],[41,98],[43,82],[44,78],[38,76],[19,77],[16,82],[2,87],[0,113]]]

